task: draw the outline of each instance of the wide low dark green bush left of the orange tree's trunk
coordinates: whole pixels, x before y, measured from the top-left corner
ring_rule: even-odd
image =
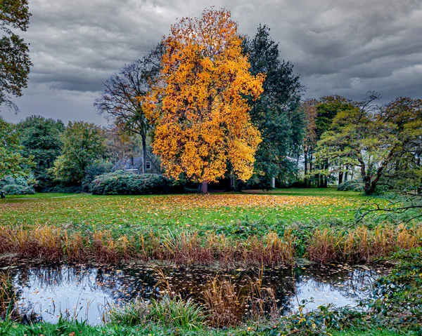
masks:
[[[135,175],[122,170],[100,175],[89,184],[89,191],[94,195],[170,194],[177,189],[162,175]]]

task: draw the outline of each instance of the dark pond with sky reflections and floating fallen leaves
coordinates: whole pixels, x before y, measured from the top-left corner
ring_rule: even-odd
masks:
[[[103,323],[111,304],[124,304],[135,298],[160,297],[164,288],[157,285],[162,275],[174,293],[183,298],[200,295],[212,278],[229,279],[241,285],[262,276],[262,285],[272,288],[282,314],[298,309],[307,300],[305,309],[322,304],[336,307],[354,306],[368,297],[369,287],[389,271],[383,264],[309,264],[294,269],[236,269],[145,266],[110,267],[87,264],[32,264],[0,262],[0,271],[7,271],[18,297],[18,314],[24,321],[56,323],[61,316]]]

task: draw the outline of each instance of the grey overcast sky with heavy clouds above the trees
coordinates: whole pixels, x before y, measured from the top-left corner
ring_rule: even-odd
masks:
[[[28,88],[18,122],[37,114],[106,124],[94,109],[103,81],[141,58],[186,16],[226,8],[241,34],[267,25],[281,58],[293,63],[306,98],[368,90],[382,102],[422,98],[422,0],[29,0]]]

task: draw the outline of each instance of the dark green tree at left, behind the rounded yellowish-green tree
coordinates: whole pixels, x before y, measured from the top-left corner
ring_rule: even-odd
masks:
[[[60,135],[65,131],[61,120],[46,119],[43,116],[28,116],[20,121],[16,128],[20,132],[20,142],[23,146],[21,153],[25,157],[32,157],[34,177],[39,187],[46,187],[51,183],[48,170],[61,154],[63,142]]]

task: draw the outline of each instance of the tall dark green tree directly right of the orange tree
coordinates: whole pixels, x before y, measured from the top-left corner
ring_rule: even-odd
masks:
[[[305,128],[304,114],[299,113],[299,75],[290,62],[280,60],[279,43],[269,35],[269,27],[260,25],[257,34],[246,37],[243,52],[249,55],[252,75],[265,74],[264,91],[252,101],[250,116],[260,130],[262,142],[256,153],[255,168],[271,180],[286,168],[289,158],[300,155]]]

